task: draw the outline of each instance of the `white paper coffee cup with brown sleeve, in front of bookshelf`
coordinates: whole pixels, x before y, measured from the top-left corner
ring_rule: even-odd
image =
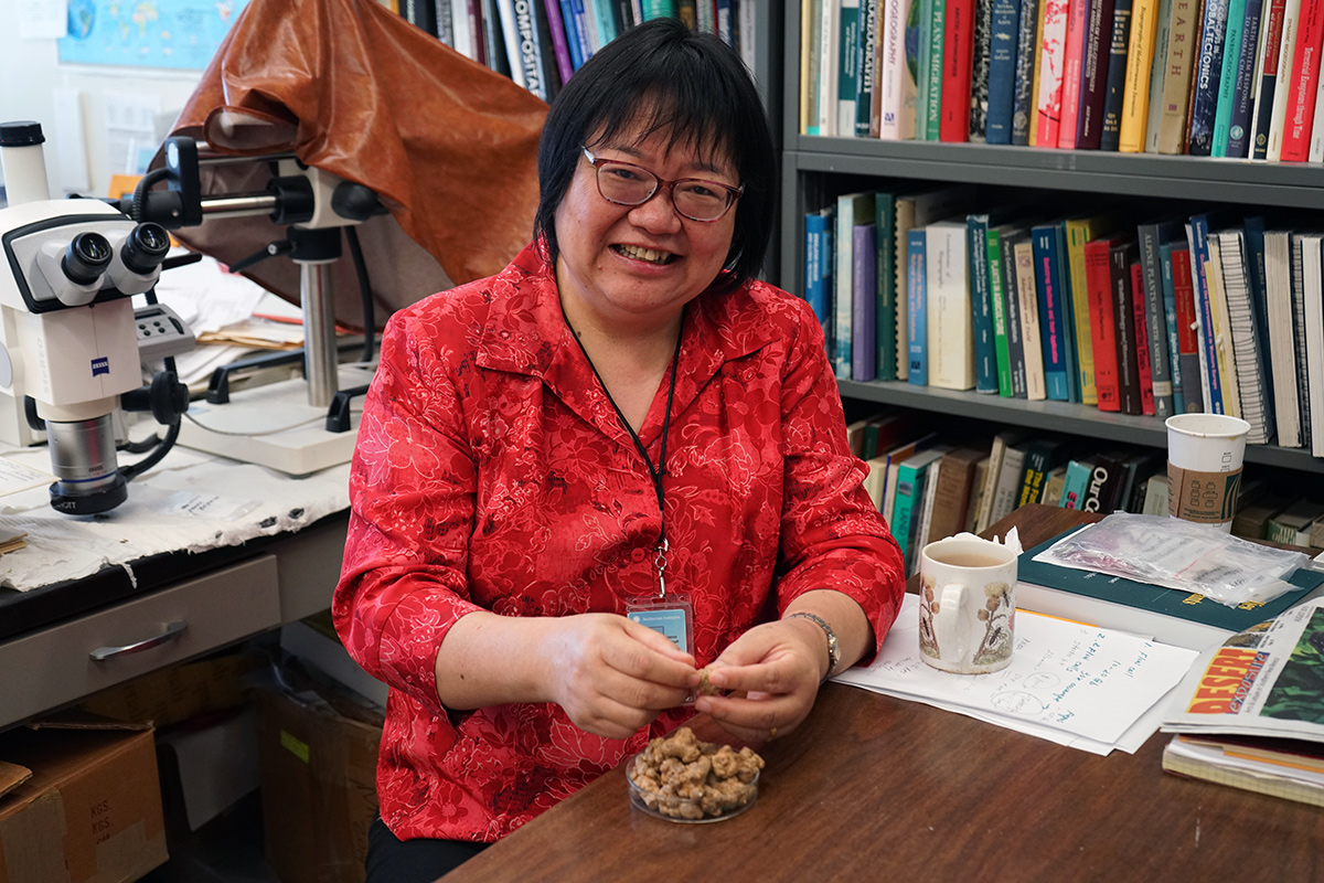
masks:
[[[1177,414],[1165,425],[1168,515],[1231,531],[1250,424],[1227,414]]]

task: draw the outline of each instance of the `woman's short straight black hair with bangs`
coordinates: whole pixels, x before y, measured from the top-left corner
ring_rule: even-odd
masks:
[[[647,114],[647,115],[641,115]],[[740,56],[712,34],[677,19],[654,19],[602,46],[552,101],[538,146],[539,204],[534,236],[552,263],[556,209],[569,189],[587,139],[632,124],[661,131],[670,146],[704,158],[728,156],[744,185],[736,212],[724,285],[759,275],[772,236],[777,156],[768,116]]]

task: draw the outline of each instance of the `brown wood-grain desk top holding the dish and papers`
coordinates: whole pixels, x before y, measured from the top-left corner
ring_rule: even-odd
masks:
[[[1031,506],[1031,544],[1088,519]],[[1162,772],[1164,733],[1099,757],[829,683],[763,748],[759,802],[726,822],[632,810],[616,769],[446,882],[1319,880],[1319,808]]]

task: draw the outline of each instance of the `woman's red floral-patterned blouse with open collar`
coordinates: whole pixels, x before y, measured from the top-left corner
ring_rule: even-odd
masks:
[[[666,387],[639,432],[654,463]],[[882,642],[903,569],[865,473],[804,301],[755,282],[688,304],[663,486],[667,589],[690,594],[699,665],[820,588]],[[332,612],[391,686],[377,794],[399,838],[495,841],[692,714],[613,740],[555,704],[437,698],[437,649],[466,613],[624,614],[657,589],[653,481],[535,248],[391,318],[350,498]]]

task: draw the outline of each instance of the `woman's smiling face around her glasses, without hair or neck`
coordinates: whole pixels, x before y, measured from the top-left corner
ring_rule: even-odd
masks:
[[[588,148],[598,159],[633,163],[662,180],[698,177],[739,187],[728,159],[703,158],[682,144],[669,151],[667,140],[665,132],[638,140],[637,130],[626,130]],[[608,327],[669,323],[722,270],[737,210],[739,203],[716,221],[694,221],[675,210],[662,185],[642,205],[609,203],[598,192],[597,168],[581,154],[556,209],[561,302],[569,312],[591,311]]]

